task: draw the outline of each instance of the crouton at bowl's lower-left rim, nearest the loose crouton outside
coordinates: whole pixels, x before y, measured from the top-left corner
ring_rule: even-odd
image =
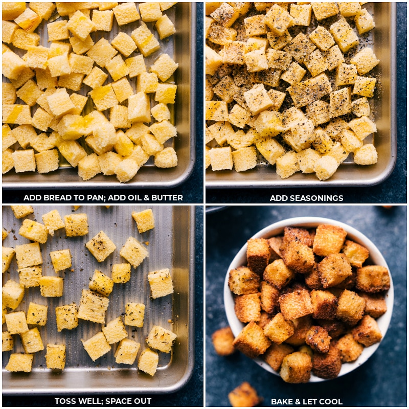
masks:
[[[270,345],[271,341],[254,321],[248,323],[233,341],[233,346],[249,358],[263,354]]]

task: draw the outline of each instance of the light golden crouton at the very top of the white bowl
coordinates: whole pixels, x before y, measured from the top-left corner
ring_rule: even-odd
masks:
[[[344,244],[347,232],[339,226],[320,224],[316,228],[313,250],[317,256],[328,256],[339,253]]]

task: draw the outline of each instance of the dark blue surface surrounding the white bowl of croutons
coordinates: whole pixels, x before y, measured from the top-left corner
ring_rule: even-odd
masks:
[[[218,356],[212,333],[228,325],[223,283],[234,256],[265,226],[296,216],[321,216],[353,226],[387,261],[394,283],[391,325],[374,355],[355,371],[326,382],[288,384],[239,352]],[[272,398],[340,398],[343,406],[406,406],[406,206],[232,206],[206,214],[206,405],[230,406],[228,393],[248,381]],[[318,404],[317,404],[318,406]]]

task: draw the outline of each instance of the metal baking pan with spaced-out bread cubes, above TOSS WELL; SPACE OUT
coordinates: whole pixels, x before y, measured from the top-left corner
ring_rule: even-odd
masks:
[[[73,213],[72,206],[34,206],[34,215],[30,219],[41,221],[41,215],[52,209],[58,209],[63,217]],[[83,237],[65,237],[65,230],[49,236],[46,244],[40,244],[43,258],[43,276],[54,276],[49,253],[57,249],[70,248],[73,269],[60,271],[64,278],[64,293],[61,298],[43,298],[38,287],[26,288],[24,300],[16,310],[24,310],[30,301],[48,304],[48,322],[45,327],[38,327],[44,350],[34,354],[31,373],[10,373],[4,368],[9,360],[10,351],[3,352],[3,393],[4,394],[70,394],[70,393],[149,393],[164,394],[174,392],[183,387],[189,380],[194,364],[194,242],[195,211],[186,206],[153,206],[151,207],[155,228],[139,234],[131,217],[133,210],[140,211],[141,206],[82,206],[76,213],[86,213],[88,217],[88,234]],[[18,235],[21,220],[17,220],[10,207],[3,207],[3,226],[9,232],[4,240],[6,247],[27,243],[28,240]],[[116,244],[117,249],[102,263],[89,253],[84,243],[103,230]],[[79,305],[81,290],[88,288],[89,278],[95,269],[110,276],[113,263],[125,262],[119,255],[122,245],[129,236],[135,237],[146,245],[149,256],[136,269],[132,268],[131,279],[125,284],[114,284],[109,296],[109,306],[105,322],[118,317],[124,312],[124,305],[129,301],[142,302],[146,305],[143,328],[126,327],[128,337],[141,344],[139,354],[144,349],[145,337],[153,325],[161,325],[171,329],[177,338],[172,352],[160,352],[159,365],[154,376],[144,374],[137,369],[137,360],[133,365],[119,365],[113,354],[117,344],[112,344],[111,351],[95,362],[84,350],[81,338],[88,339],[101,330],[101,324],[79,320],[73,330],[57,332],[55,323],[55,307],[73,301]],[[149,242],[149,244],[148,244]],[[172,295],[150,299],[150,287],[147,281],[149,271],[169,268],[174,284]],[[5,280],[18,282],[15,259]],[[32,326],[30,326],[32,327]],[[135,331],[137,329],[137,331]],[[5,325],[3,330],[5,330]],[[11,352],[24,352],[18,335],[14,337],[14,349]],[[53,372],[46,368],[47,343],[66,344],[66,366],[61,372]]]

